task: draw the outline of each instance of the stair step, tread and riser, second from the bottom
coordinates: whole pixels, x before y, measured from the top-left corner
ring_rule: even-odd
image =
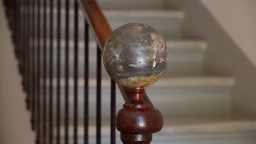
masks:
[[[47,82],[48,83],[48,82]],[[203,115],[231,113],[232,77],[176,77],[160,79],[147,89],[147,94],[164,116]],[[90,117],[96,116],[96,80],[89,80]],[[54,103],[56,103],[56,79],[54,79]],[[61,79],[61,105],[65,99],[65,79]],[[49,86],[47,86],[49,89]],[[69,79],[69,112],[73,117],[73,79]],[[79,117],[83,117],[84,80],[78,80]],[[117,110],[123,107],[124,100],[117,88]],[[110,113],[110,80],[102,80],[102,117]],[[61,117],[64,117],[62,111]]]

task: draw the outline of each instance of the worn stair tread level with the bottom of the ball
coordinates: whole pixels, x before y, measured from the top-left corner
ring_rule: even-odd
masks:
[[[54,78],[53,81],[56,81]],[[69,78],[69,87],[73,87],[73,78]],[[102,87],[110,86],[110,79],[103,78],[101,82]],[[65,86],[65,78],[60,79],[61,87]],[[53,86],[56,87],[56,82]],[[150,87],[177,87],[177,86],[233,86],[235,80],[230,76],[190,76],[190,77],[165,77],[157,81]],[[78,86],[84,86],[84,79],[78,79]],[[96,79],[89,79],[89,86],[96,86]]]

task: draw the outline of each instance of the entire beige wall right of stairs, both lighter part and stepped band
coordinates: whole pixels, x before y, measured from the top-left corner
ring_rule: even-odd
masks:
[[[253,2],[253,0],[240,2],[242,1]],[[185,39],[207,41],[206,75],[235,77],[236,85],[232,93],[234,113],[256,114],[256,69],[252,63],[256,58],[254,56],[256,33],[253,33],[256,25],[251,23],[256,13],[248,10],[254,6],[247,4],[240,7],[238,0],[232,0],[232,2],[228,0],[166,0],[165,2],[168,8],[184,11],[182,30]],[[212,8],[208,9],[208,7]],[[247,18],[242,17],[247,14]],[[220,18],[217,19],[214,15]],[[243,29],[246,30],[243,31]]]

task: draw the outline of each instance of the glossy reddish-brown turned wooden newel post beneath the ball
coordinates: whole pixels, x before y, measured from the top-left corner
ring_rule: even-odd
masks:
[[[150,143],[152,134],[160,131],[163,118],[160,111],[147,104],[144,88],[128,88],[131,97],[117,114],[117,129],[123,143]]]

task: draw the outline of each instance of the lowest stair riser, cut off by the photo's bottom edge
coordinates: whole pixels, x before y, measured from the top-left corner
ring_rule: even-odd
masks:
[[[160,132],[161,133],[161,132]],[[206,134],[173,134],[173,135],[161,135],[156,133],[153,135],[152,143],[156,144],[254,144],[256,141],[256,132],[237,132],[237,133],[206,133]],[[109,143],[110,136],[102,136],[102,143]],[[69,138],[69,143],[73,143],[73,137]],[[79,144],[84,142],[83,136],[79,135]],[[116,142],[123,144],[120,141],[120,135],[117,134]],[[54,141],[56,143],[56,141]],[[61,138],[61,143],[64,143],[64,139]],[[90,136],[89,143],[96,143],[96,137]]]

